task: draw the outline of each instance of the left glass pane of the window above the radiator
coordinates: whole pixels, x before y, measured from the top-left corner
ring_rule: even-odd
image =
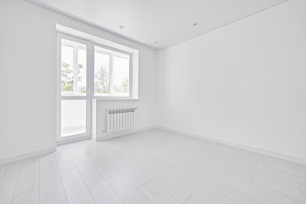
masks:
[[[109,94],[109,54],[95,47],[94,52],[94,95]]]

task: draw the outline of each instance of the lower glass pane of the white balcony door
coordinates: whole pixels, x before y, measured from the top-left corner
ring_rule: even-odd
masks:
[[[61,137],[86,133],[86,100],[62,100]]]

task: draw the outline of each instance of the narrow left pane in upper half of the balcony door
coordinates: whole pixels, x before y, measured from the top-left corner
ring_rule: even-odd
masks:
[[[62,44],[62,94],[73,92],[73,47]]]

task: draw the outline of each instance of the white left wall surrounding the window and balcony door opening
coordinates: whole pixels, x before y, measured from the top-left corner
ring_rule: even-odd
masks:
[[[55,147],[56,23],[139,50],[135,105],[152,116],[139,128],[155,124],[155,50],[25,0],[1,0],[0,162]]]

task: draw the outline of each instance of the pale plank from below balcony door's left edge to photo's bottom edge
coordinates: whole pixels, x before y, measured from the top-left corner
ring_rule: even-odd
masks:
[[[58,164],[68,203],[95,204],[86,184],[72,161]],[[65,200],[65,199],[64,199]]]

